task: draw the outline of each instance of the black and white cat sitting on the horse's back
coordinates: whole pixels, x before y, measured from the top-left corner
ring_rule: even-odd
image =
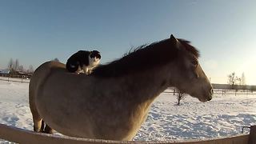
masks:
[[[81,73],[83,70],[85,74],[90,74],[93,68],[99,64],[101,58],[101,54],[97,50],[79,50],[67,60],[66,70],[71,73]]]

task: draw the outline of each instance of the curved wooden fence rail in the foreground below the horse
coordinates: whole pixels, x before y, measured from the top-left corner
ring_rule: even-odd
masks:
[[[179,144],[256,144],[256,126],[250,126],[250,134],[239,134],[228,138],[210,138],[201,140],[184,140],[184,141],[112,141],[102,139],[74,138],[67,136],[58,136],[54,134],[35,133],[30,130],[23,130],[12,126],[0,124],[0,138],[10,142],[26,144],[58,144],[58,143],[179,143]]]

